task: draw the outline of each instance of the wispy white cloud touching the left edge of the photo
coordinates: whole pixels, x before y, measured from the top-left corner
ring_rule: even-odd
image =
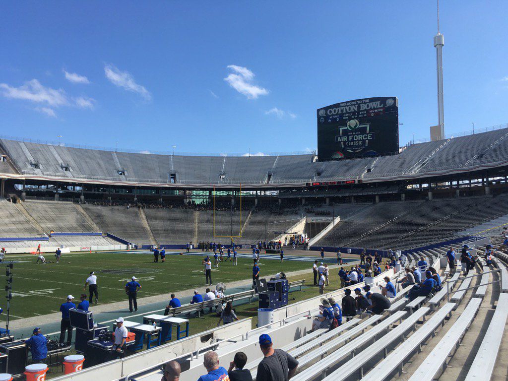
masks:
[[[2,95],[11,99],[22,99],[36,103],[46,103],[49,106],[58,107],[69,104],[65,91],[45,87],[37,79],[25,82],[19,87],[9,86],[7,83],[0,83],[3,89]]]

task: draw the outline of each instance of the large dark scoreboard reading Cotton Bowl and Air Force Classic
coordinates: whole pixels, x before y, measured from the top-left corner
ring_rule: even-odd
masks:
[[[317,109],[320,161],[397,154],[397,97],[365,98]]]

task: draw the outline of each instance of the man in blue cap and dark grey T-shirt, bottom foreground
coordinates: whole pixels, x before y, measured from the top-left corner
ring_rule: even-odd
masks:
[[[288,381],[295,375],[298,361],[280,349],[273,349],[269,335],[262,334],[259,345],[265,357],[258,365],[256,381]]]

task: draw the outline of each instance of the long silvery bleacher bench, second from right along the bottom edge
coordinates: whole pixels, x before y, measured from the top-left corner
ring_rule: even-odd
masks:
[[[448,356],[450,356],[453,349],[458,346],[466,329],[471,325],[474,316],[480,308],[480,304],[482,304],[482,299],[471,299],[457,321],[437,343],[415,373],[411,375],[409,381],[431,381],[436,378],[437,373],[443,365],[448,365]]]

